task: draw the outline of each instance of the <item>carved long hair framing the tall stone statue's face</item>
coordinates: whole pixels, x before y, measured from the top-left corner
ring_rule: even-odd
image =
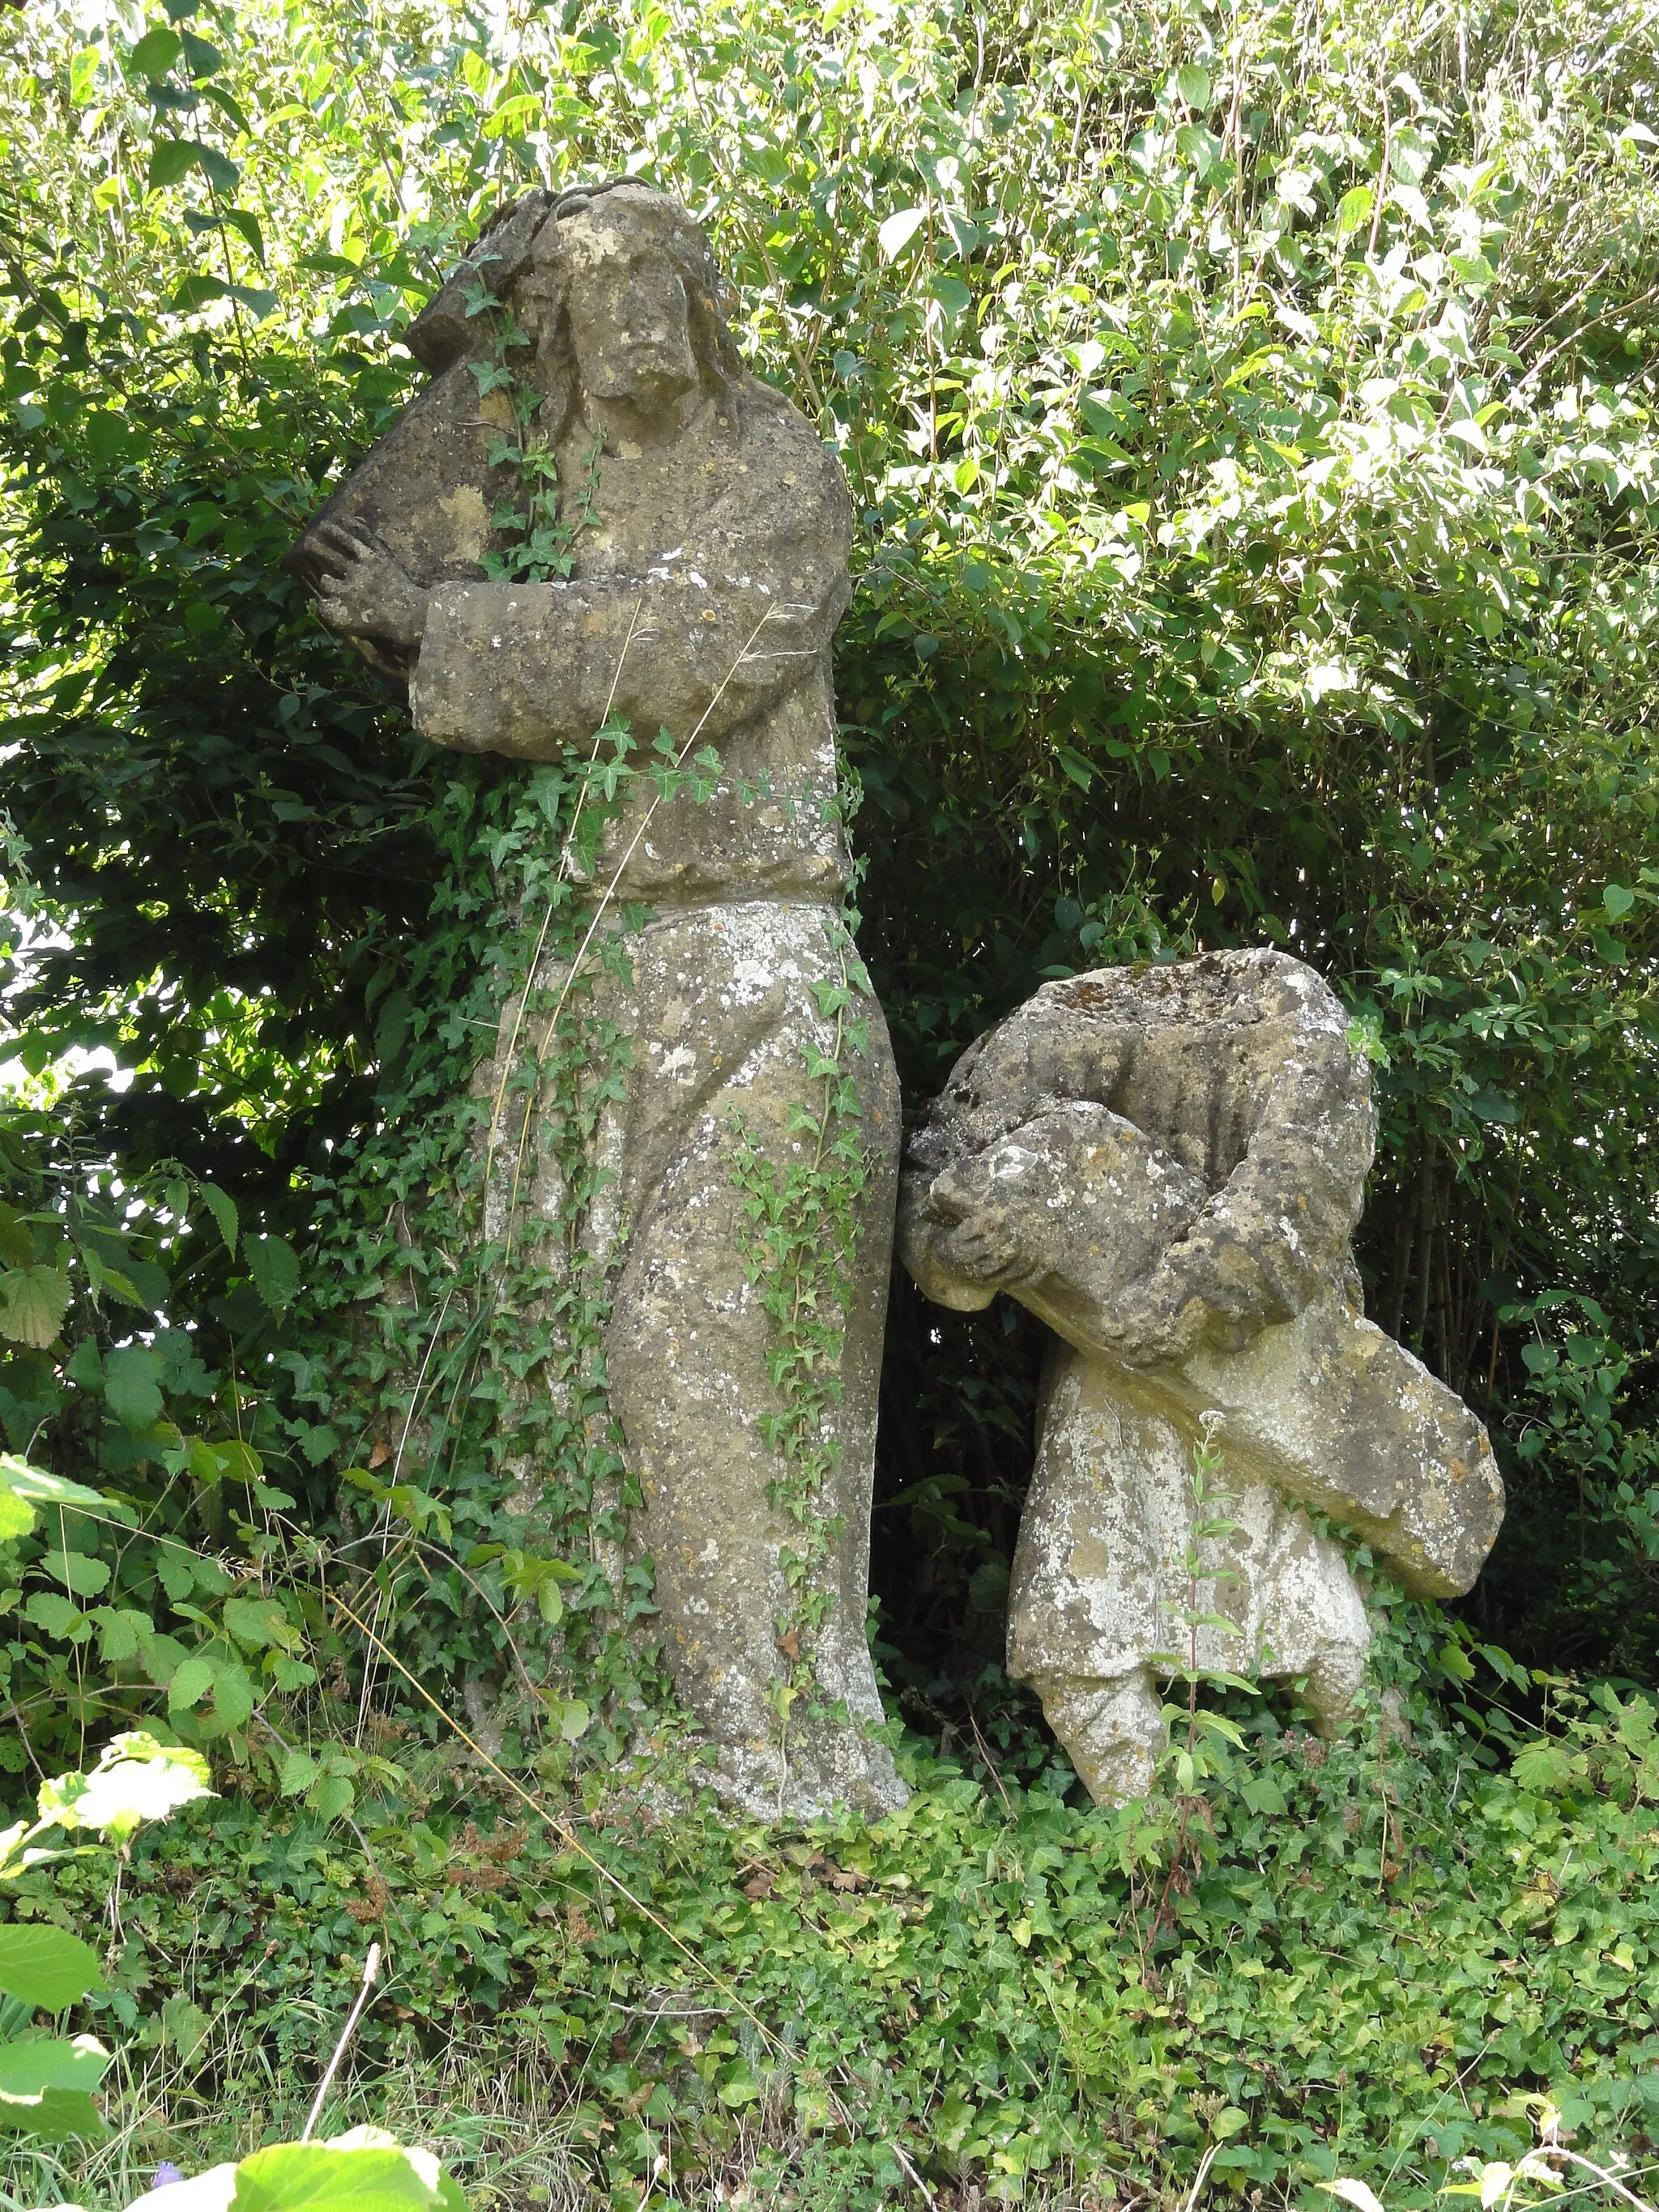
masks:
[[[575,394],[566,305],[571,279],[580,268],[602,263],[606,252],[635,243],[659,248],[686,285],[690,345],[703,385],[714,394],[745,387],[750,376],[726,325],[734,294],[703,226],[668,192],[633,177],[568,192],[538,190],[511,201],[491,217],[453,276],[409,325],[405,345],[434,374],[482,354],[489,316],[478,314],[480,292],[500,301],[535,345],[542,420],[557,434]],[[533,292],[524,283],[529,276],[538,279]],[[522,312],[526,294],[535,299],[533,319]]]

